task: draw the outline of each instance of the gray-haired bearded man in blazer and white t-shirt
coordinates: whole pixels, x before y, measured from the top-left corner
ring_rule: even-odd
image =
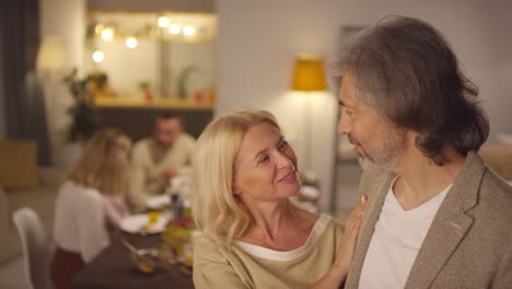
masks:
[[[512,288],[512,188],[478,155],[478,88],[429,23],[388,16],[339,49],[338,131],[369,198],[345,288]]]

